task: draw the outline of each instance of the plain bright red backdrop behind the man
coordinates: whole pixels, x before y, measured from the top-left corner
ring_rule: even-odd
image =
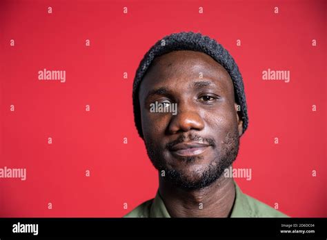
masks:
[[[154,197],[132,81],[155,41],[189,30],[217,39],[244,77],[241,189],[291,217],[327,217],[326,1],[1,1],[0,29],[0,168],[27,169],[0,179],[0,217],[121,217]],[[66,83],[39,81],[43,68]],[[263,81],[268,68],[290,82]]]

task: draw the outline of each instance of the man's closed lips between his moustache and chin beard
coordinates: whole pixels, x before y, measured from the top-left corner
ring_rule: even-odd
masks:
[[[170,151],[172,154],[176,154],[180,157],[192,157],[199,154],[202,154],[209,147],[206,143],[197,143],[197,142],[189,142],[189,143],[177,143]]]

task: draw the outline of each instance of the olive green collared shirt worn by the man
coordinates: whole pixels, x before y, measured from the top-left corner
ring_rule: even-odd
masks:
[[[234,183],[236,196],[230,217],[288,217],[265,203],[244,194],[235,181]],[[142,203],[124,217],[170,217],[170,215],[159,190],[157,190],[155,199]]]

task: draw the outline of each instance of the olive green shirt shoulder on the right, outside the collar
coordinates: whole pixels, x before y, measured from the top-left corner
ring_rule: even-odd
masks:
[[[244,194],[244,199],[246,199],[251,210],[251,217],[288,217],[286,214],[268,206],[266,203],[248,196],[248,194]]]

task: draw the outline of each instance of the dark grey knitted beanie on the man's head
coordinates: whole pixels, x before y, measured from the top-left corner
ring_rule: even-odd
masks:
[[[197,52],[204,52],[212,59],[215,59],[221,66],[223,66],[230,74],[235,91],[235,102],[241,106],[240,117],[243,120],[243,134],[248,128],[248,111],[246,106],[246,96],[244,92],[244,83],[241,77],[241,72],[229,52],[217,43],[215,39],[204,36],[195,32],[179,32],[170,34],[155,43],[148,52],[144,55],[139,68],[135,74],[132,90],[132,100],[134,108],[135,126],[139,132],[139,136],[143,139],[141,127],[141,112],[139,106],[139,86],[150,67],[152,61],[163,54],[177,50],[192,50]]]

